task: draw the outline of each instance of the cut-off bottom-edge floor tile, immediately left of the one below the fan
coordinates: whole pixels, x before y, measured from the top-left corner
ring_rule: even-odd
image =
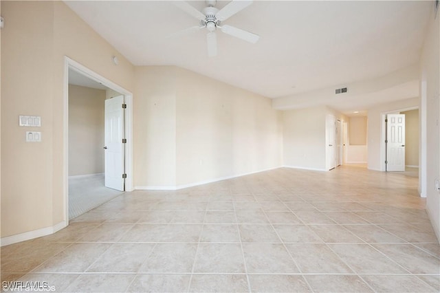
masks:
[[[127,292],[187,292],[190,274],[137,274]]]

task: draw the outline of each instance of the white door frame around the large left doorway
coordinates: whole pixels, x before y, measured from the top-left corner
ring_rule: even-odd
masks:
[[[133,94],[131,91],[111,82],[84,65],[67,56],[64,57],[64,91],[63,91],[63,199],[64,221],[69,225],[69,69],[72,69],[91,80],[118,91],[125,96],[125,191],[133,191]]]

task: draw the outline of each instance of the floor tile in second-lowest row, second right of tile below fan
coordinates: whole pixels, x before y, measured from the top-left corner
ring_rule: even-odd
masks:
[[[325,244],[286,244],[300,271],[307,274],[352,274]]]

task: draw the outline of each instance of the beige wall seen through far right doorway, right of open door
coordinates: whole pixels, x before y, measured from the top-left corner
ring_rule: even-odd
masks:
[[[419,166],[419,109],[405,114],[405,164]]]

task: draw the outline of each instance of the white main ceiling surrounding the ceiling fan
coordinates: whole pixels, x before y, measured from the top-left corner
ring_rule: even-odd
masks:
[[[208,58],[204,30],[168,37],[198,24],[173,1],[65,3],[134,65],[176,65],[279,98],[417,63],[433,2],[254,1],[224,24],[260,40],[250,44],[217,32],[214,58]]]

